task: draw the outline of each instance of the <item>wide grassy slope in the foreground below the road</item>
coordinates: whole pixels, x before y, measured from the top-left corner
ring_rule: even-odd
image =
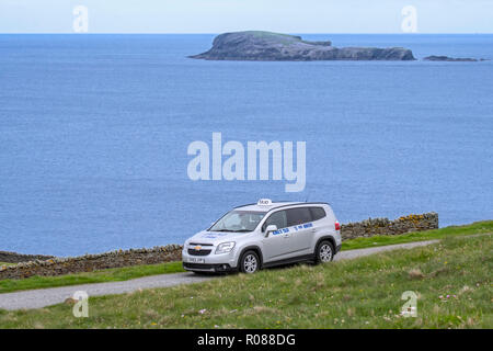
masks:
[[[491,235],[322,265],[237,274],[198,284],[0,310],[0,328],[493,328]],[[402,293],[417,317],[400,316]],[[447,295],[449,297],[447,298]]]

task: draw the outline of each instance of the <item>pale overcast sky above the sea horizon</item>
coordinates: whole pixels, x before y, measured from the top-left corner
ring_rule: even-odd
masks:
[[[0,0],[0,33],[72,33],[77,5],[89,33],[493,33],[493,0]]]

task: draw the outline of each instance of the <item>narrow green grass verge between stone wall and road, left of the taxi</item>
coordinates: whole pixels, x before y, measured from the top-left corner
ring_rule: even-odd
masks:
[[[0,293],[89,283],[118,282],[146,275],[177,272],[184,272],[182,262],[134,265],[58,276],[31,276],[21,280],[9,279],[0,280]]]

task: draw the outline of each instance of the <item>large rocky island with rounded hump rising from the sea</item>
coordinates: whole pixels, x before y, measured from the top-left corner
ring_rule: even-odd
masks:
[[[414,60],[403,47],[334,47],[331,42],[309,42],[300,36],[248,31],[216,36],[213,47],[191,58],[207,60],[311,61]]]

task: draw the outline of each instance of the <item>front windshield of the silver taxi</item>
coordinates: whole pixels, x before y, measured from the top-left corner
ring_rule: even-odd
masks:
[[[231,211],[216,222],[209,231],[253,231],[264,216],[264,212]]]

